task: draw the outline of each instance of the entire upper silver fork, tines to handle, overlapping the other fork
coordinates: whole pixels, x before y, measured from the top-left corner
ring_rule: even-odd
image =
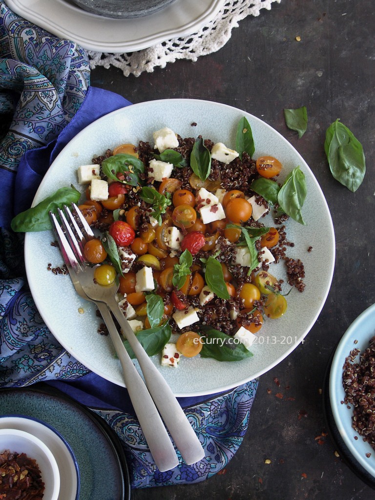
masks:
[[[72,263],[72,268],[76,275],[76,279],[81,284],[84,293],[90,299],[97,302],[105,302],[109,309],[113,312],[115,318],[121,326],[123,334],[127,338],[139,362],[139,366],[142,370],[145,384],[147,385],[149,393],[151,394],[152,399],[174,440],[174,443],[179,449],[182,458],[187,464],[191,464],[200,460],[204,456],[204,450],[199,442],[198,437],[191,427],[181,406],[173,395],[170,387],[144,351],[133,330],[125,319],[121,309],[119,308],[119,305],[115,298],[118,285],[97,285],[93,280],[93,268],[85,265],[86,262],[82,254],[82,248],[86,240],[94,237],[90,227],[84,220],[82,214],[75,204],[72,204],[72,211],[79,218],[84,229],[84,234],[75,222],[75,219],[70,210],[67,207],[64,207],[64,209],[66,215],[69,218],[69,222],[73,227],[74,232],[76,233],[74,235],[72,229],[70,228],[70,224],[67,222],[64,216],[64,213],[62,211],[59,211],[65,231],[69,235],[71,245],[74,248],[74,251],[81,263],[81,265],[79,265],[77,260],[74,258],[75,262]],[[129,389],[127,383],[126,386]]]

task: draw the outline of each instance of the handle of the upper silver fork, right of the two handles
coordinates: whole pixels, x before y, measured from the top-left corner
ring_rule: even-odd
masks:
[[[201,460],[204,457],[202,445],[169,385],[139,343],[116,300],[113,298],[107,302],[107,305],[134,351],[147,388],[182,458],[188,465]]]

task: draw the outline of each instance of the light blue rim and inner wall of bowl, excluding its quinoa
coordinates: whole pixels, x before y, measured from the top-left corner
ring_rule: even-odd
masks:
[[[345,357],[354,348],[363,352],[373,335],[375,335],[375,304],[370,305],[351,323],[336,348],[329,375],[329,398],[334,421],[343,441],[360,465],[375,477],[375,451],[352,428],[352,409],[341,403],[345,396],[342,387],[342,367]],[[354,340],[357,340],[357,343],[354,343]],[[358,358],[359,354],[355,360]],[[358,439],[354,439],[354,436]],[[366,457],[366,453],[371,453],[371,456]]]

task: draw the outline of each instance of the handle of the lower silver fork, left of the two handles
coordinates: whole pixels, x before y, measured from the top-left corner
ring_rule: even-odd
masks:
[[[104,302],[95,303],[120,360],[126,388],[155,464],[161,472],[169,470],[178,465],[178,458],[155,403],[122,343],[108,307]]]

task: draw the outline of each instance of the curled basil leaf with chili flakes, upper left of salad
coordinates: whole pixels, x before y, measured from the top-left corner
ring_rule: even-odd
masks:
[[[124,179],[121,181],[136,187],[142,184],[140,174],[144,173],[144,164],[132,154],[113,154],[102,161],[101,170],[104,175],[113,180],[121,180],[116,174],[123,174]]]

